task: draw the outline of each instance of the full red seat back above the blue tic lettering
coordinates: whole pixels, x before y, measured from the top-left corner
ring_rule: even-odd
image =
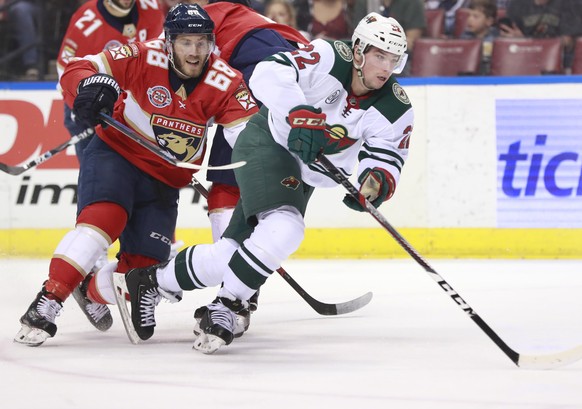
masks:
[[[562,73],[559,38],[497,38],[493,42],[491,75]]]

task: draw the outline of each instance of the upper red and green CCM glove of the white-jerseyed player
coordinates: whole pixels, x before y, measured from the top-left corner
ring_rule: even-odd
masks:
[[[291,131],[287,146],[304,163],[313,162],[327,143],[325,119],[326,115],[321,112],[321,108],[309,105],[297,105],[289,111],[287,122],[291,125]]]

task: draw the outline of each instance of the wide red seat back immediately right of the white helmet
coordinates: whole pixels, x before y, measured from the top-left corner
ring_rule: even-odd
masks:
[[[476,75],[481,40],[420,38],[414,43],[411,75],[417,77]]]

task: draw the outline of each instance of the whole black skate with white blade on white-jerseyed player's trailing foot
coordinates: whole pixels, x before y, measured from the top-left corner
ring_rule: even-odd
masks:
[[[123,318],[129,339],[137,343],[138,339],[147,340],[154,335],[156,326],[155,309],[162,298],[170,302],[178,302],[181,294],[164,291],[158,286],[156,272],[158,268],[165,266],[167,262],[145,268],[134,268],[127,274],[113,274],[113,282],[116,287],[115,297]],[[129,295],[131,303],[131,320],[125,303],[125,294]]]

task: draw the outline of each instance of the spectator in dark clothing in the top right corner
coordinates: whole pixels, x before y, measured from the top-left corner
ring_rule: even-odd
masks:
[[[564,66],[571,64],[574,36],[580,20],[572,13],[573,0],[511,0],[507,17],[500,21],[502,37],[560,37],[564,47]]]

